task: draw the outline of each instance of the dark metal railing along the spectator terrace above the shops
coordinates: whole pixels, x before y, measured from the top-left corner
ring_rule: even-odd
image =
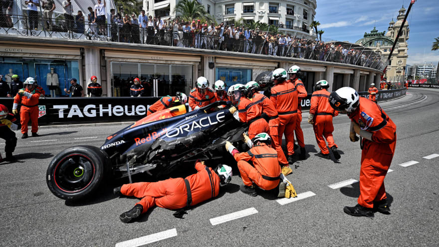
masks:
[[[123,24],[117,19],[112,24],[99,25],[88,21],[67,21],[65,19],[46,19],[41,17],[29,20],[27,16],[17,15],[12,16],[12,19],[14,27],[6,27],[5,22],[0,22],[0,35],[9,35],[11,40],[19,40],[20,37],[24,36],[39,36],[46,37],[47,39],[82,39],[206,50],[226,50],[338,62],[379,70],[384,69],[385,65],[387,65],[387,61],[380,54],[356,44],[340,42],[340,45],[335,45],[334,43],[317,42],[316,40],[298,37],[293,37],[290,41],[285,41],[282,44],[283,42],[278,42],[277,38],[272,40],[265,37],[263,32],[256,31],[251,31],[250,37],[246,39],[241,38],[244,33],[238,35],[239,38],[229,38],[226,29],[224,29],[222,36],[219,36],[219,30],[208,33],[206,27],[204,29],[184,30],[179,25],[176,28],[178,31],[174,31],[172,23],[168,27],[158,29],[156,27],[140,27],[138,24]],[[306,28],[292,25],[281,24],[278,26],[299,29],[305,32],[309,31]]]

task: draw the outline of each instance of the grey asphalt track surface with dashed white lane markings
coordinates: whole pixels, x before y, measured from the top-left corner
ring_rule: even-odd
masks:
[[[133,242],[124,242],[141,237],[140,245],[157,241],[151,246],[439,246],[439,157],[423,158],[439,154],[439,90],[410,88],[407,96],[380,105],[397,125],[393,171],[385,179],[391,215],[348,216],[343,207],[357,204],[359,184],[329,187],[359,180],[361,150],[349,141],[346,115],[334,118],[334,139],[343,153],[334,162],[314,155],[318,146],[303,114],[309,155],[288,178],[299,198],[312,196],[284,205],[263,191],[250,197],[239,191],[242,181],[235,172],[217,199],[188,211],[185,219],[156,207],[131,224],[119,215],[138,199],[116,198],[108,186],[85,202],[66,202],[52,195],[45,181],[58,152],[100,146],[123,126],[45,127],[39,138],[18,140],[19,162],[0,164],[0,246],[129,246]],[[399,166],[409,161],[419,163]],[[239,211],[249,213],[218,225],[210,221]]]

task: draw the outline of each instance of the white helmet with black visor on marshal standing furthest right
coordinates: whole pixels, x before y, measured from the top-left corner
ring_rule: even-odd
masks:
[[[360,96],[352,87],[342,87],[329,95],[329,104],[339,112],[352,112],[360,103]]]

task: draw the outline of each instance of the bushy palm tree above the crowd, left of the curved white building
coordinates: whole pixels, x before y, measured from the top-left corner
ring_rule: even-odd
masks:
[[[186,21],[200,19],[203,22],[206,20],[209,22],[216,22],[215,18],[208,14],[205,6],[199,3],[197,0],[179,1],[179,3],[175,6],[173,13]]]

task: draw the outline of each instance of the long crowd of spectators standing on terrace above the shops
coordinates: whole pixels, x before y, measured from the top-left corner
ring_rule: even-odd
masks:
[[[7,0],[0,0],[7,1]],[[50,19],[55,3],[53,0],[26,0],[28,4],[28,26],[38,28],[36,6],[44,8],[42,14],[44,28],[52,30]],[[273,33],[250,29],[233,23],[217,25],[193,19],[186,21],[179,17],[162,19],[161,16],[147,16],[141,10],[134,13],[110,10],[110,19],[105,17],[105,0],[97,0],[94,7],[88,7],[87,17],[78,11],[73,15],[71,0],[64,0],[65,31],[77,33],[76,36],[105,38],[115,42],[170,45],[190,48],[226,50],[244,53],[286,56],[320,61],[354,64],[382,69],[385,66],[380,54],[359,45],[342,42],[323,42],[305,39],[290,34]],[[34,10],[35,8],[35,10]],[[36,17],[35,17],[36,16]],[[87,18],[87,20],[86,20]]]

